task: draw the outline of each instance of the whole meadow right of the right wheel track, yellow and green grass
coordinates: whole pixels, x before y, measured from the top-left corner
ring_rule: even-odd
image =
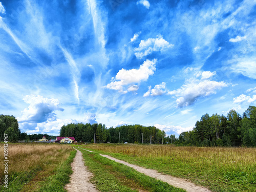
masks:
[[[83,148],[185,178],[212,191],[256,191],[256,148],[96,144]]]

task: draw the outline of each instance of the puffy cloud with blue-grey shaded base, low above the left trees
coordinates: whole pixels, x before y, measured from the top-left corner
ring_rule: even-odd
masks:
[[[22,116],[18,118],[19,122],[54,121],[56,115],[53,112],[64,111],[60,108],[58,99],[48,99],[40,95],[27,95],[23,100],[30,105],[22,111]]]

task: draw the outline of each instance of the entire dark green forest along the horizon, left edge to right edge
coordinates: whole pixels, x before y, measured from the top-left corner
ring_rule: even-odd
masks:
[[[46,139],[55,139],[48,134],[20,133],[18,121],[14,116],[0,115],[0,134],[8,134],[9,141],[38,140],[42,136]],[[105,124],[71,123],[63,125],[60,136],[75,137],[80,142],[95,143],[143,143],[165,144],[173,143],[177,146],[256,146],[256,107],[249,106],[241,116],[235,110],[230,110],[227,116],[205,114],[195,124],[193,130],[175,135],[166,136],[164,131],[155,126],[139,124],[122,125],[107,129]]]

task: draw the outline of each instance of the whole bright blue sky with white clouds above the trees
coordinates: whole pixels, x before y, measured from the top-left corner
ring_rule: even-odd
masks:
[[[193,130],[256,104],[256,0],[0,0],[0,114]]]

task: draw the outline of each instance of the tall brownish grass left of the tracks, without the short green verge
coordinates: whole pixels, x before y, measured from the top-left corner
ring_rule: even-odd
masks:
[[[3,144],[0,145],[0,162],[4,162]],[[38,188],[36,182],[44,180],[54,174],[54,168],[65,161],[72,147],[60,144],[8,144],[8,190],[22,190],[33,178],[35,182],[25,186],[24,191],[33,191]],[[0,170],[4,170],[3,163],[0,163]],[[0,172],[0,190],[3,189],[4,172]],[[33,186],[35,185],[35,186]]]

